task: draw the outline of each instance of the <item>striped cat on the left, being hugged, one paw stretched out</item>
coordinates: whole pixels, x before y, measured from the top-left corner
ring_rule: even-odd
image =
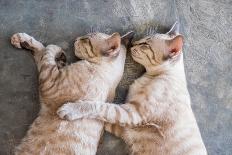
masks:
[[[16,155],[94,155],[104,123],[82,119],[68,122],[56,115],[65,102],[81,100],[113,101],[123,75],[126,48],[133,32],[91,33],[76,39],[75,55],[82,59],[66,66],[64,51],[56,45],[45,47],[26,33],[16,33],[11,43],[32,51],[39,71],[41,110]]]

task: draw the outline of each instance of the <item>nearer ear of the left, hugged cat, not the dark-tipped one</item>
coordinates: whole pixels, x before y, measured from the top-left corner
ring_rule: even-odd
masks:
[[[121,37],[120,34],[115,32],[107,40],[107,50],[102,52],[104,56],[116,56],[120,51]]]

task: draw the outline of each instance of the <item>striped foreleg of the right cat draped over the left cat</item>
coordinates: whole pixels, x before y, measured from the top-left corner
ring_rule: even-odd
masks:
[[[118,105],[105,102],[79,101],[64,104],[57,111],[57,114],[68,120],[95,118],[120,126],[138,126],[145,120],[136,106],[130,103]]]

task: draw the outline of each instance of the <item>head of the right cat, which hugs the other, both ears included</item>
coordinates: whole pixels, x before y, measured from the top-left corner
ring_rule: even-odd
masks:
[[[146,36],[135,41],[131,48],[133,59],[146,69],[176,59],[183,46],[183,36],[178,31],[179,24],[176,22],[165,34]]]

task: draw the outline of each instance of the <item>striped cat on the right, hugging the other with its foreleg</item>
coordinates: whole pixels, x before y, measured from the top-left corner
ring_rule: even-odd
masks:
[[[133,155],[207,154],[190,105],[178,25],[133,43],[131,55],[146,72],[130,86],[125,104],[70,102],[58,115],[105,121],[105,129],[121,137]]]

